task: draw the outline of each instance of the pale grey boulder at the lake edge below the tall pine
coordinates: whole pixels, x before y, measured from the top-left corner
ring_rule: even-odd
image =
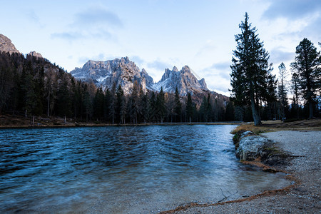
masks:
[[[243,137],[235,153],[241,161],[253,161],[266,156],[265,148],[272,146],[272,143],[273,141],[261,136]]]

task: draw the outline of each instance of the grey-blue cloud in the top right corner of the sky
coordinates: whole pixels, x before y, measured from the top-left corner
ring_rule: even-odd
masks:
[[[314,12],[320,11],[321,4],[318,0],[274,0],[270,7],[264,12],[266,19],[301,19]]]

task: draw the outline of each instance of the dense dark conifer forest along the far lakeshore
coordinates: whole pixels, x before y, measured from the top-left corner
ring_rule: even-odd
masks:
[[[0,115],[66,117],[102,123],[234,121],[234,107],[217,93],[179,96],[144,92],[134,83],[124,95],[121,86],[109,90],[77,81],[46,58],[0,53]]]

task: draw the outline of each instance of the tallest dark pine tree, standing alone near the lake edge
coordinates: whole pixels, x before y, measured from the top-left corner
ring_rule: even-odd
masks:
[[[235,35],[237,46],[233,51],[233,65],[230,66],[233,101],[237,106],[250,104],[254,124],[260,126],[259,103],[267,97],[267,76],[272,68],[257,30],[248,23],[248,13],[245,13],[245,21],[239,27],[241,34]]]

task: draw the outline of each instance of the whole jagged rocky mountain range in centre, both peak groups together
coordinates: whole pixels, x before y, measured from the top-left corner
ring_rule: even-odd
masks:
[[[71,74],[83,81],[92,80],[103,89],[111,89],[113,83],[116,83],[116,86],[121,84],[126,94],[131,93],[135,81],[144,91],[161,91],[163,87],[163,91],[174,93],[177,87],[180,96],[208,91],[204,78],[198,80],[188,66],[184,66],[180,71],[175,66],[173,70],[166,68],[161,81],[154,83],[147,71],[144,68],[140,71],[128,57],[108,61],[90,60],[82,68],[75,68]]]

